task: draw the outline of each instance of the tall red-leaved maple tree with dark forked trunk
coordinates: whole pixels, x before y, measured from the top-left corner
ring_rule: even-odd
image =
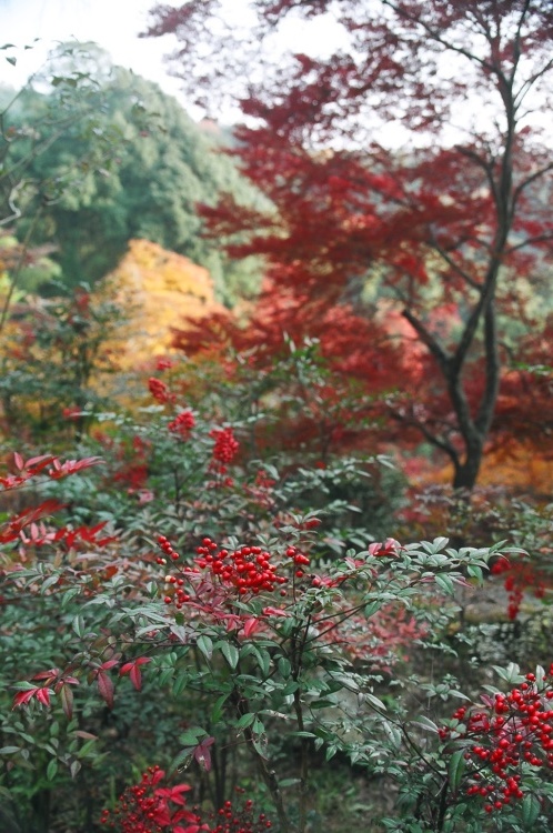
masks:
[[[200,100],[218,107],[230,91],[247,117],[242,170],[273,208],[247,212],[229,197],[207,212],[214,233],[234,255],[264,254],[273,292],[364,314],[368,288],[393,299],[421,348],[393,416],[449,456],[455,488],[472,489],[502,367],[521,322],[537,327],[529,295],[546,307],[553,8],[251,0],[241,30],[224,11],[158,6],[148,32],[177,36],[175,74]],[[279,32],[294,29],[304,51],[273,60]]]

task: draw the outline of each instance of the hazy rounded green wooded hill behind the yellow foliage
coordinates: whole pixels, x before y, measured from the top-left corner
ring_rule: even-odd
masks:
[[[233,160],[218,152],[229,131],[197,124],[155,83],[110,67],[94,44],[60,57],[47,78],[76,79],[74,101],[71,87],[61,101],[62,83],[50,92],[41,84],[40,92],[24,91],[6,114],[7,129],[19,131],[10,148],[16,163],[29,151],[31,133],[37,148],[51,139],[26,169],[34,191],[27,190],[20,239],[32,222],[34,198],[43,208],[33,243],[56,245],[52,258],[67,285],[93,284],[117,267],[130,240],[142,239],[208,269],[227,304],[255,292],[258,267],[232,262],[203,240],[195,210],[198,202],[215,203],[222,191],[244,204],[260,199]],[[57,136],[62,107],[77,116]]]

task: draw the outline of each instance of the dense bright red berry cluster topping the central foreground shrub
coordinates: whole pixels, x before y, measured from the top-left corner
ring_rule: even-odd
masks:
[[[204,538],[202,545],[197,548],[197,553],[200,558],[195,559],[195,563],[200,568],[209,569],[223,583],[234,585],[241,595],[262,590],[271,592],[278,584],[288,581],[276,575],[276,566],[271,564],[270,553],[261,546],[220,550],[214,541]]]

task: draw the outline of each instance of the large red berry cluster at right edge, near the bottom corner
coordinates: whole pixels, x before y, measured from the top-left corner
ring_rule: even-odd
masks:
[[[482,699],[485,707],[461,706],[453,714],[460,725],[441,727],[439,734],[444,741],[452,732],[472,741],[464,755],[466,794],[482,796],[485,812],[492,813],[524,796],[522,764],[553,769],[553,664],[542,685],[531,673],[509,694]]]

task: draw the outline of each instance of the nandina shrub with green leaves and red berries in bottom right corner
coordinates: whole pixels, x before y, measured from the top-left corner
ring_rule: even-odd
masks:
[[[403,774],[402,821],[385,820],[386,830],[551,829],[553,666],[494,671],[506,691],[486,685],[440,726],[425,721],[439,742],[419,747]]]

